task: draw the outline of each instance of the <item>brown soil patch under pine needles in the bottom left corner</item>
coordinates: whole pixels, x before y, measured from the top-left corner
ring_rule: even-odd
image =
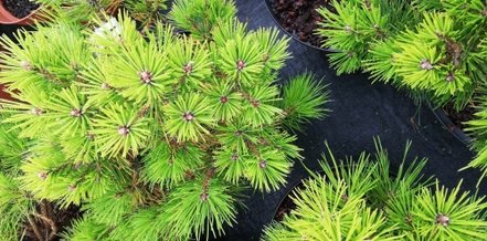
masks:
[[[60,234],[67,231],[74,219],[81,217],[80,207],[70,206],[62,209],[51,202],[42,201],[36,207],[39,216],[30,216],[32,221],[25,221],[22,241],[57,241]],[[42,217],[41,217],[42,216]]]

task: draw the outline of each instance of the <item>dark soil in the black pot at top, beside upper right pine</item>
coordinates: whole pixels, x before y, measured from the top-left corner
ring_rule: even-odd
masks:
[[[303,42],[321,48],[325,38],[318,36],[315,31],[321,15],[318,8],[331,8],[329,0],[269,0],[272,11],[284,30]]]

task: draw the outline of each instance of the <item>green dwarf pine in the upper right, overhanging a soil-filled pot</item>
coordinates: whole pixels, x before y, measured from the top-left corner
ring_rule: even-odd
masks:
[[[466,130],[477,157],[468,167],[487,175],[487,2],[481,0],[332,1],[318,34],[339,50],[330,62],[340,73],[362,69],[371,78],[409,91],[435,107],[476,107]]]

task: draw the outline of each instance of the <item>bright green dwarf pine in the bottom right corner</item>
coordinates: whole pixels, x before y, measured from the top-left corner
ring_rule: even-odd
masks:
[[[296,209],[263,240],[485,240],[487,202],[421,175],[425,159],[393,174],[387,151],[337,160],[331,151],[293,192]]]

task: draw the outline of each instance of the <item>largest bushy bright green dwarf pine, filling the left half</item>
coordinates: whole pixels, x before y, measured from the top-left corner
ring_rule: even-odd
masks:
[[[286,182],[300,158],[293,132],[324,117],[325,86],[310,74],[280,85],[288,40],[246,30],[233,2],[174,4],[190,34],[141,33],[124,12],[95,14],[95,27],[61,14],[1,39],[0,83],[18,99],[2,101],[2,125],[22,144],[0,181],[0,210],[23,213],[8,237],[31,218],[28,199],[81,206],[68,240],[208,239],[236,221],[242,189]],[[198,21],[180,14],[201,9]]]

